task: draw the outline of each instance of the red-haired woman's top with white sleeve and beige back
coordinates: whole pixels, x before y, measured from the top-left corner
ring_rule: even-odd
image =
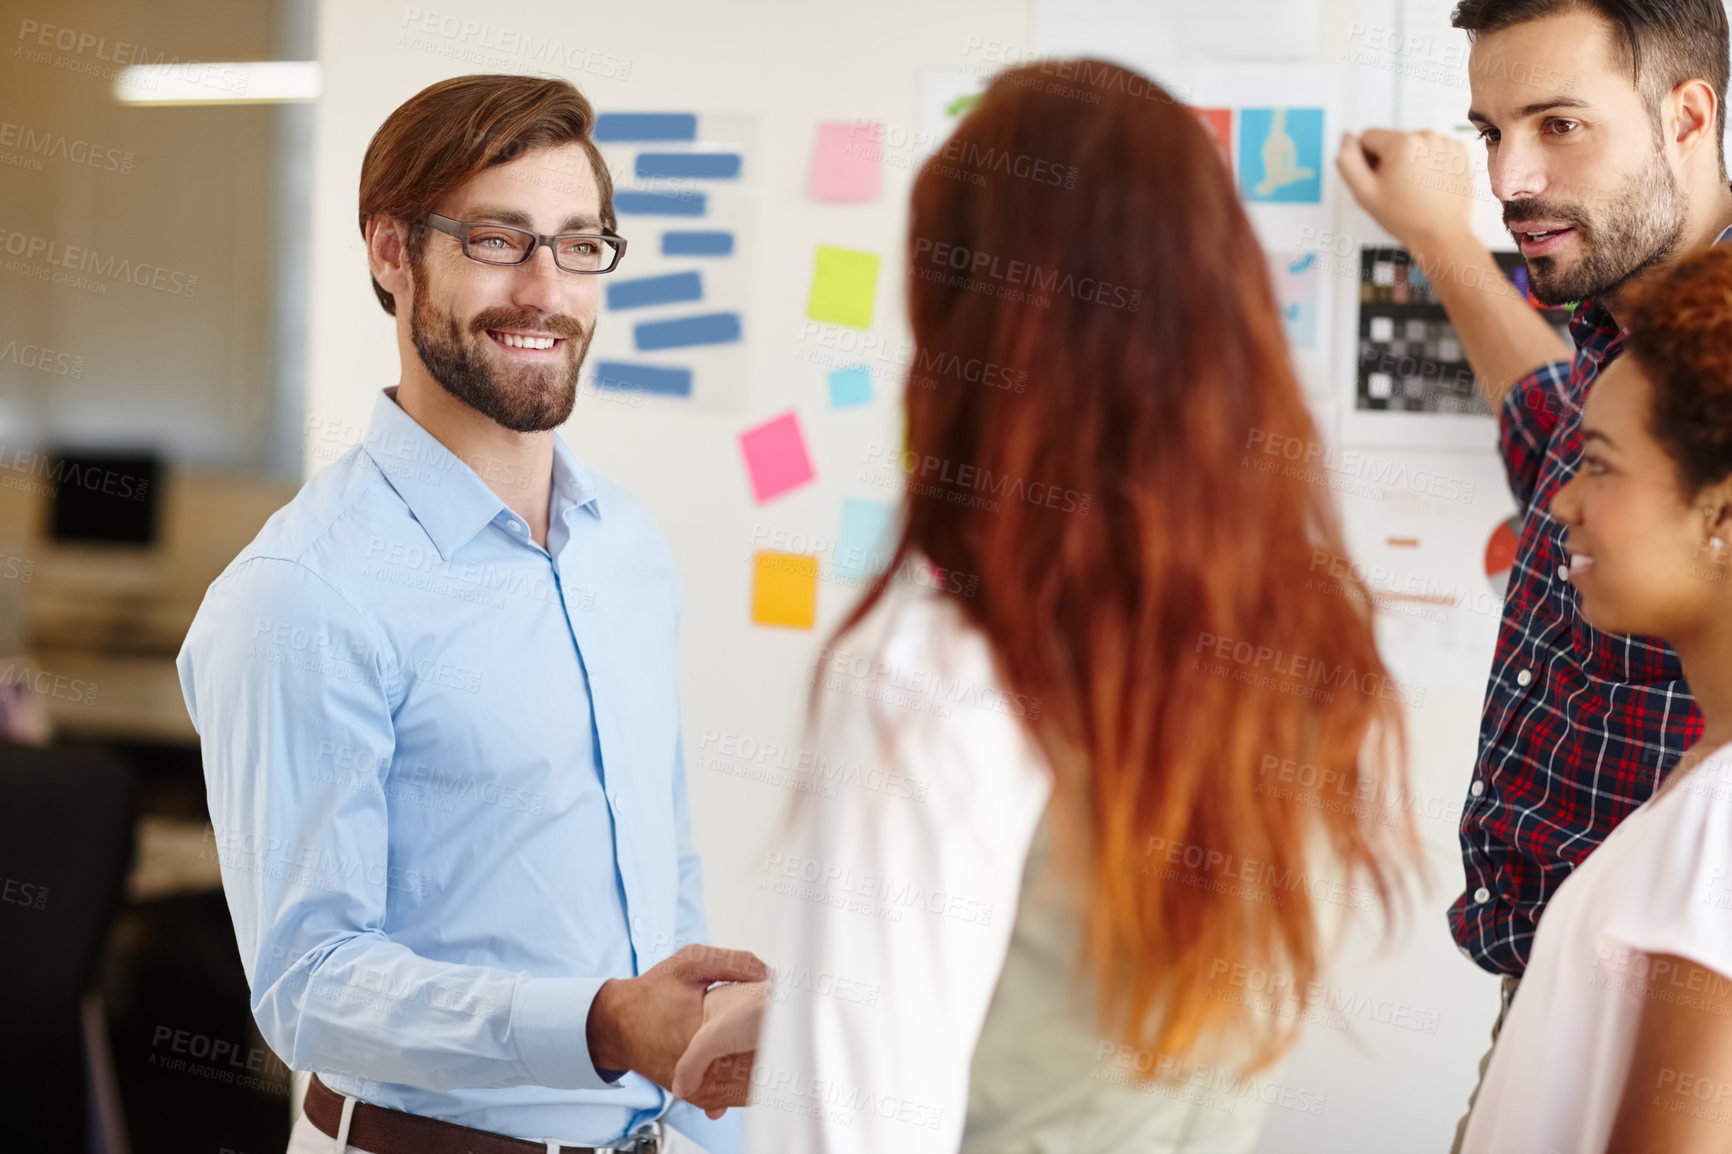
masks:
[[[1081,925],[1037,844],[1051,773],[1024,717],[1041,702],[1001,688],[956,603],[899,589],[818,676],[814,754],[866,788],[805,797],[766,878],[788,924],[750,1149],[953,1154],[966,1131],[992,1154],[1249,1151],[1266,1100],[1124,1085],[1102,1060]]]

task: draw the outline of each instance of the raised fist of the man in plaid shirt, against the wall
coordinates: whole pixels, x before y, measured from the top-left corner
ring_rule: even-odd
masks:
[[[1474,166],[1460,140],[1429,130],[1344,132],[1335,172],[1360,208],[1412,253],[1470,232]]]

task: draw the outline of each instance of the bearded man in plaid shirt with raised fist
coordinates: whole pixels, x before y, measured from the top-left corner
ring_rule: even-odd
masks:
[[[1335,165],[1443,296],[1522,511],[1462,811],[1467,885],[1450,906],[1462,953],[1503,976],[1495,1041],[1547,899],[1701,735],[1664,643],[1581,619],[1550,504],[1580,468],[1588,390],[1623,347],[1619,289],[1732,236],[1729,47],[1720,0],[1464,0],[1453,24],[1472,42],[1467,116],[1491,192],[1535,296],[1580,301],[1574,350],[1474,237],[1462,144],[1368,130]]]

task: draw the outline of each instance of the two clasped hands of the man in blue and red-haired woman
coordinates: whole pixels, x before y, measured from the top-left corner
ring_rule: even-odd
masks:
[[[589,1059],[721,1118],[746,1104],[767,993],[769,967],[745,950],[686,946],[637,977],[603,982],[589,1005]]]

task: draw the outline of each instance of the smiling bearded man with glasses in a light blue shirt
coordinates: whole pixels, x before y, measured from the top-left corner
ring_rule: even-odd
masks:
[[[592,128],[533,76],[379,128],[402,376],[178,657],[253,1014],[315,1074],[293,1154],[740,1147],[767,972],[701,944],[674,563],[554,435],[625,253]]]

